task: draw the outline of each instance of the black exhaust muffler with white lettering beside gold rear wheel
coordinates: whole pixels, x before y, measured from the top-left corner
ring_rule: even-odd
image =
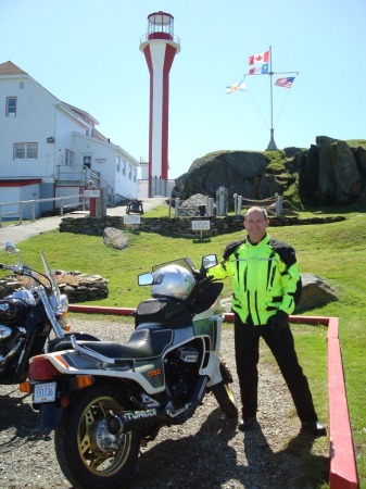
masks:
[[[157,417],[155,409],[146,411],[122,411],[108,421],[106,427],[112,435],[117,436],[123,432],[131,431],[132,429],[152,426],[155,424]]]

